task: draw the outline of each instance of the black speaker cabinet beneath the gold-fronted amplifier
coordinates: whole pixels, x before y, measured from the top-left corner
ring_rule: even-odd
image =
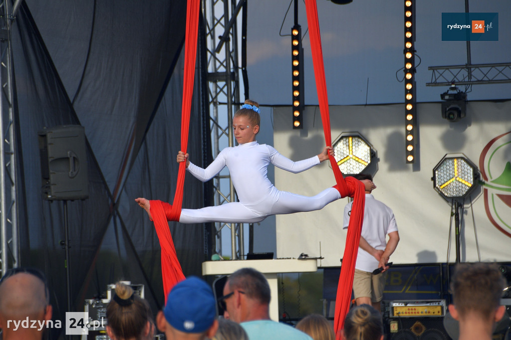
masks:
[[[392,340],[449,340],[442,317],[390,318],[387,339]]]

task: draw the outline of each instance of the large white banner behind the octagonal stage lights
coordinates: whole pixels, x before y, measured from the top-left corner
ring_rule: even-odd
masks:
[[[292,160],[318,154],[324,147],[318,107],[307,107],[304,130],[291,127],[291,108],[273,109],[274,147]],[[467,116],[450,123],[439,103],[417,105],[419,157],[405,163],[404,104],[330,107],[332,139],[358,132],[377,152],[373,191],[396,216],[401,240],[394,263],[454,262],[455,223],[451,202],[433,189],[433,168],[446,154],[464,154],[481,172],[460,217],[462,262],[511,261],[511,102],[468,102]],[[333,186],[327,162],[300,174],[275,168],[275,186],[313,196]],[[342,214],[347,199],[320,211],[276,216],[277,257],[300,253],[322,256],[320,266],[339,266],[346,231]],[[449,257],[448,257],[448,252]]]

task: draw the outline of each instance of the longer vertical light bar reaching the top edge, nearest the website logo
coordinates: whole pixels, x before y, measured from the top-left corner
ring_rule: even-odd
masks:
[[[405,155],[406,163],[415,162],[417,146],[417,99],[415,91],[415,1],[405,0]]]

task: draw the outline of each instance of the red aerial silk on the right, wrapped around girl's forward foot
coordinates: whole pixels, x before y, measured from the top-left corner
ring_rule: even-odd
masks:
[[[327,82],[324,76],[323,52],[321,49],[321,36],[319,33],[318,13],[316,0],[305,0],[307,10],[307,23],[309,25],[309,36],[311,41],[312,62],[314,65],[314,75],[316,78],[316,88],[318,93],[319,111],[323,123],[324,138],[327,145],[332,145],[332,136],[330,133],[330,112],[328,106]],[[334,330],[336,337],[341,339],[340,330],[344,326],[344,318],[350,308],[350,301],[353,289],[353,275],[355,273],[355,262],[357,260],[358,247],[360,245],[360,234],[362,231],[362,222],[364,219],[365,191],[362,182],[353,177],[342,177],[342,173],[335,161],[330,156],[330,163],[334,170],[336,188],[342,197],[353,197],[353,207],[350,216],[350,225],[348,226],[346,236],[346,246],[342,257],[341,275],[337,286],[337,297],[335,301]]]

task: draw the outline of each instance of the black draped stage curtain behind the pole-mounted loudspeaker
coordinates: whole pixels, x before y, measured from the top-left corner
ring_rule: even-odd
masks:
[[[174,197],[185,11],[184,0],[31,0],[13,21],[20,264],[48,276],[54,320],[67,309],[64,215],[62,201],[41,195],[44,127],[82,125],[87,139],[89,198],[67,203],[73,311],[120,279],[144,284],[153,311],[164,301],[158,239],[134,199]],[[198,51],[205,53],[202,43]],[[189,153],[199,165],[211,159],[204,75],[196,71],[190,126]],[[204,196],[211,188],[191,176],[185,188],[183,207],[212,204]],[[170,228],[184,274],[200,276],[211,227]]]

